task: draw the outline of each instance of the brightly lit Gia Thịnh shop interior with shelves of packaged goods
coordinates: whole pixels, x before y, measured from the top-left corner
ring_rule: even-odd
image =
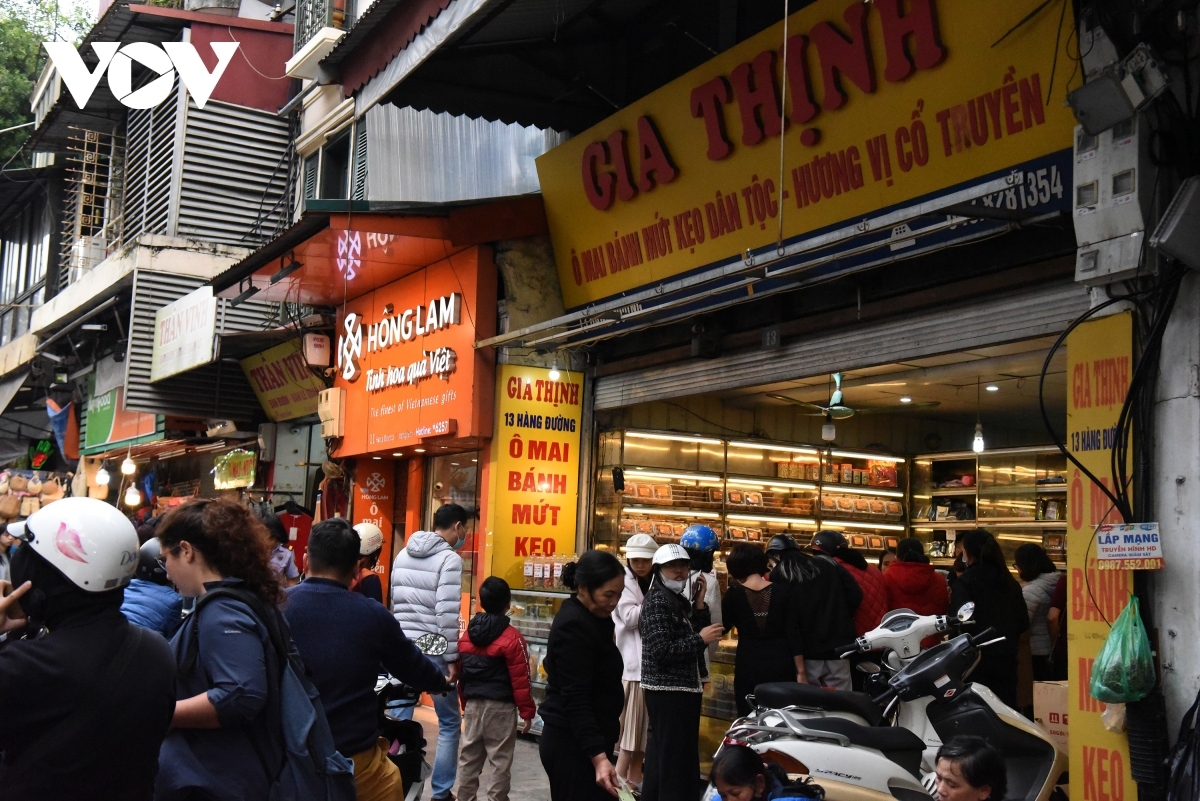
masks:
[[[779,534],[806,547],[817,529],[835,529],[872,564],[900,538],[918,537],[949,572],[958,537],[983,528],[1010,566],[1018,547],[1037,543],[1062,570],[1068,506],[1080,499],[1069,496],[1066,458],[1040,411],[1044,403],[1063,430],[1064,350],[1050,359],[1039,392],[1052,344],[973,348],[838,379],[829,365],[798,380],[599,411],[594,546],[619,554],[634,534],[661,544],[704,523],[725,555]],[[716,570],[724,591],[720,556]],[[702,754],[734,717],[736,649],[722,640],[713,661]]]

